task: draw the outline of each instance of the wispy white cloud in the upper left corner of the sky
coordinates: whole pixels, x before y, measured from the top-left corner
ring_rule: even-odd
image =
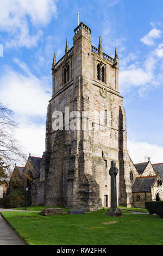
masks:
[[[8,0],[0,1],[0,31],[8,33],[5,47],[27,48],[36,46],[42,36],[39,29],[30,35],[29,22],[37,29],[47,25],[57,16],[55,0]]]

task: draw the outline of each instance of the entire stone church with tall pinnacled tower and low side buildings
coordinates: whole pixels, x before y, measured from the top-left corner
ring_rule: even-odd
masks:
[[[34,205],[89,211],[110,206],[112,160],[119,170],[118,205],[143,207],[146,200],[162,199],[163,164],[159,173],[159,165],[134,164],[128,154],[118,71],[117,50],[114,58],[105,54],[101,37],[98,48],[92,46],[91,29],[83,22],[74,29],[73,47],[67,40],[58,62],[54,54],[46,151],[42,158],[29,155],[22,170],[33,177]]]

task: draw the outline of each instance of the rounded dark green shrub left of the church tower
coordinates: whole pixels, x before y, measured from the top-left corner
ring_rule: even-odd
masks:
[[[30,194],[27,193],[27,205],[30,206],[32,204]],[[8,196],[4,199],[4,207],[5,208],[18,208],[25,207],[26,205],[26,191],[16,189],[12,191]]]

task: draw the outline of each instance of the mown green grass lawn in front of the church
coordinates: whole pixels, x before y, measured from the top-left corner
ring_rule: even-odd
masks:
[[[41,216],[3,212],[3,216],[29,245],[163,245],[163,219],[157,215],[123,212],[123,217],[115,218],[105,213]]]

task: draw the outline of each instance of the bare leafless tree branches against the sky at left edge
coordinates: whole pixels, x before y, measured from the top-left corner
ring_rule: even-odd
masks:
[[[24,163],[27,159],[15,137],[17,128],[14,113],[0,103],[0,157],[10,170],[16,162]]]

